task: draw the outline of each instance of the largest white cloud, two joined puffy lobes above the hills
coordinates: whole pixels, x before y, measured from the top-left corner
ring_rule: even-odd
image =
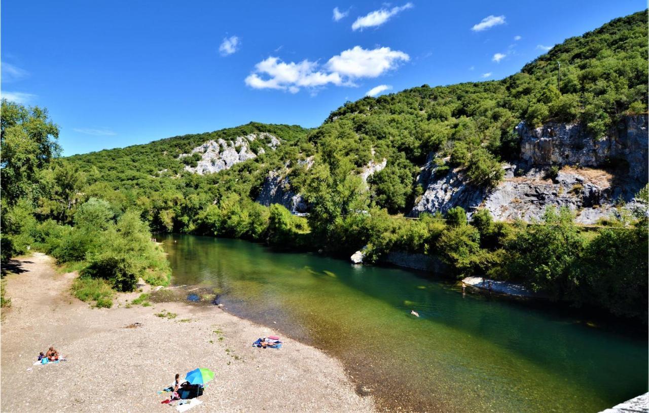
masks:
[[[287,63],[270,56],[254,66],[245,84],[254,89],[286,90],[293,94],[300,88],[313,89],[327,84],[355,86],[355,79],[378,77],[408,60],[410,56],[406,53],[389,47],[367,50],[360,46],[333,56],[322,67],[306,59]]]

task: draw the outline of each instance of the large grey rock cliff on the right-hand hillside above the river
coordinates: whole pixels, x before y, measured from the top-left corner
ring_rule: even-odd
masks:
[[[426,190],[410,216],[461,206],[469,214],[487,208],[496,220],[530,221],[540,219],[546,206],[554,205],[569,207],[580,223],[595,223],[619,214],[614,206],[619,201],[634,208],[638,205],[633,197],[647,182],[646,116],[626,118],[617,131],[594,141],[580,125],[551,123],[527,129],[520,123],[520,161],[505,164],[504,181],[491,190],[472,186],[457,169],[436,174],[434,154],[430,154],[419,175]],[[628,173],[612,175],[601,169],[611,160],[626,162]],[[563,166],[553,179],[546,177],[551,165]]]

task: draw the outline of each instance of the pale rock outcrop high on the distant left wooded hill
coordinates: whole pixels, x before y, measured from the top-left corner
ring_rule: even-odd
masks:
[[[185,166],[185,170],[199,175],[218,172],[223,169],[230,169],[232,165],[239,162],[256,158],[257,155],[250,149],[250,143],[254,140],[261,140],[273,150],[280,144],[280,140],[276,136],[267,132],[252,133],[247,136],[237,136],[234,141],[210,140],[201,146],[195,147],[190,153],[181,154],[178,158],[199,153],[201,159],[197,162],[197,165],[195,167]],[[264,149],[259,149],[258,153],[264,153]]]

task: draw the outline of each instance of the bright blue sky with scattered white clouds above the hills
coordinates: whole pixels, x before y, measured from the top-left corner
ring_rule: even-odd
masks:
[[[234,3],[5,0],[2,95],[47,107],[64,155],[249,121],[315,127],[370,91],[502,79],[544,47],[646,7]]]

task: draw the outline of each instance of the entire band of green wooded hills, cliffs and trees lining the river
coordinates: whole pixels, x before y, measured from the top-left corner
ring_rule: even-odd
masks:
[[[136,248],[148,225],[365,262],[428,255],[444,275],[646,323],[648,43],[645,10],[506,79],[364,97],[315,129],[249,123],[67,158],[47,112],[3,100],[3,261],[34,247],[80,262],[86,286],[165,282],[160,251]],[[529,205],[545,225],[496,216]],[[584,232],[578,214],[606,229]]]

